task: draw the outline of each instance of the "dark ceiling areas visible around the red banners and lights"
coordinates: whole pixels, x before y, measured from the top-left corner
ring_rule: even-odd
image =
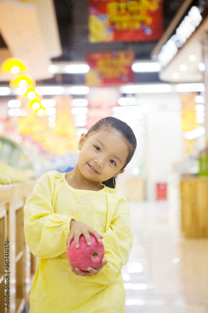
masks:
[[[164,31],[166,30],[172,18],[177,13],[181,4],[185,0],[178,1],[177,5],[174,5],[174,0],[163,0],[164,3]],[[61,61],[65,57],[65,54],[69,54],[74,49],[75,44],[80,42],[86,34],[88,34],[88,1],[76,0],[73,2],[66,0],[54,0],[54,6],[56,11],[62,55],[58,58],[51,59],[52,61]],[[154,49],[157,41],[140,42],[134,49],[135,59],[150,59],[150,54]],[[128,48],[129,42],[111,42],[111,43],[89,43],[76,51],[75,55],[72,55],[70,61],[84,61],[85,53],[89,51],[107,51],[107,50],[120,50]],[[6,47],[3,39],[0,37],[0,48]],[[135,73],[136,83],[146,82],[158,82],[161,81],[158,78],[158,73]],[[85,84],[84,74],[56,74],[53,78],[47,80],[39,80],[39,84]]]

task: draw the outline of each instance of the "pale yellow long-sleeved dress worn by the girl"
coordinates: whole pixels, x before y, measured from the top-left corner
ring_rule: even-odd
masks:
[[[116,190],[71,187],[65,173],[49,171],[36,182],[24,206],[24,233],[39,257],[30,291],[30,313],[122,313],[125,289],[121,268],[133,246],[129,204]],[[70,221],[99,234],[107,264],[97,275],[75,275],[66,256]]]

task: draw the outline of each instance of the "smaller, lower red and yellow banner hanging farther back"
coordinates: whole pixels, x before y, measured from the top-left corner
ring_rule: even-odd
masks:
[[[87,53],[86,61],[90,69],[85,74],[86,84],[98,86],[133,82],[133,59],[133,52],[125,53],[123,50]]]

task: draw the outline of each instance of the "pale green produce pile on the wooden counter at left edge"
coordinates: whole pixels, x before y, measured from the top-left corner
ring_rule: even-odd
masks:
[[[15,167],[0,161],[0,185],[12,184],[14,182],[25,183],[27,177]]]

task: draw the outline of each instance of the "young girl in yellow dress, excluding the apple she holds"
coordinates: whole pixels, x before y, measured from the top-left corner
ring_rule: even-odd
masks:
[[[129,204],[115,189],[136,149],[132,129],[106,117],[81,134],[71,172],[49,171],[36,182],[24,206],[24,232],[39,257],[30,291],[30,313],[122,313],[125,289],[121,268],[133,246]],[[101,183],[100,183],[101,182]],[[105,255],[97,269],[70,267],[72,239],[102,239]]]

